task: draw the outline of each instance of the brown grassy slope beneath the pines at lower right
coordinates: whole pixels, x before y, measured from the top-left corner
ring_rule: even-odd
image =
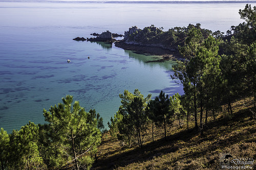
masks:
[[[220,169],[220,153],[255,160],[256,122],[251,119],[252,98],[234,102],[232,107],[232,115],[228,115],[227,106],[223,106],[223,112],[215,121],[209,118],[204,136],[197,131],[187,132],[185,125],[178,128],[174,123],[168,129],[167,140],[162,138],[161,128],[156,131],[154,142],[148,132],[143,149],[120,147],[119,142],[111,140],[106,133],[93,169]]]

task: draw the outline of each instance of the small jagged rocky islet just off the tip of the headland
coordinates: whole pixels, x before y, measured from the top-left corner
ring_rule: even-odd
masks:
[[[73,40],[76,41],[99,41],[99,42],[108,42],[113,43],[117,41],[116,37],[122,37],[121,34],[111,33],[110,31],[102,32],[101,34],[93,33],[91,34],[93,36],[96,36],[95,38],[83,38],[83,37],[76,37]]]

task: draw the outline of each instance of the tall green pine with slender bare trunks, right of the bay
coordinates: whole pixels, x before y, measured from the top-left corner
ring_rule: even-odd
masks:
[[[183,89],[189,99],[193,99],[195,127],[197,128],[197,108],[200,103],[200,125],[202,128],[203,107],[213,108],[218,101],[217,91],[221,82],[220,61],[218,55],[219,41],[209,36],[200,42],[202,36],[197,29],[192,29],[188,44],[183,48],[184,54],[190,54],[190,60],[178,62],[173,66],[173,79],[183,84]],[[192,54],[192,55],[191,55]],[[207,118],[206,118],[207,119]]]

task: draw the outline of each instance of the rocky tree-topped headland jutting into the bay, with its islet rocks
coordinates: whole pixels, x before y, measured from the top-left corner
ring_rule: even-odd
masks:
[[[163,31],[163,28],[157,28],[154,25],[139,29],[134,26],[121,34],[111,33],[110,31],[102,32],[101,34],[93,33],[95,38],[77,37],[76,41],[99,41],[99,42],[115,42],[115,46],[124,50],[135,51],[139,54],[149,54],[161,56],[158,61],[165,60],[184,60],[179,53],[179,46],[183,46],[185,39],[191,29],[197,28],[201,31],[204,37],[207,37],[211,31],[201,29],[198,23],[196,26],[189,24],[188,27],[175,27],[168,31]],[[122,37],[122,40],[116,40],[115,37]]]

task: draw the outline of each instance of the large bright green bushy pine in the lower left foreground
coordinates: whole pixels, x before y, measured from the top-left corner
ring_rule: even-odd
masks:
[[[73,96],[67,95],[62,98],[63,104],[58,107],[51,106],[49,111],[44,109],[44,116],[49,124],[46,128],[49,135],[46,135],[50,142],[52,154],[49,162],[61,166],[74,166],[79,169],[79,165],[91,167],[92,160],[87,161],[87,153],[96,151],[101,141],[101,133],[98,129],[100,122],[95,110],[87,113],[84,108],[75,101],[73,106]],[[48,143],[49,145],[49,143]],[[54,154],[55,153],[55,154]],[[65,164],[58,158],[62,157]]]

